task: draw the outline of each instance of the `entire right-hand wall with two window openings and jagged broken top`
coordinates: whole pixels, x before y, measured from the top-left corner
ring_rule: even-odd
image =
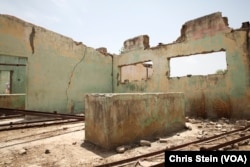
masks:
[[[191,20],[176,42],[114,57],[114,91],[184,92],[187,115],[250,118],[249,38],[249,24],[233,30],[221,13]],[[226,52],[225,74],[170,78],[171,58],[217,51]],[[154,71],[150,79],[120,82],[120,66],[148,60]]]

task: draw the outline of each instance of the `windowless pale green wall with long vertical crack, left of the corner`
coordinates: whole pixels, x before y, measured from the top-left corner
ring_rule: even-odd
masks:
[[[28,110],[78,113],[86,93],[112,92],[111,56],[12,16],[0,15],[0,55],[27,58]]]

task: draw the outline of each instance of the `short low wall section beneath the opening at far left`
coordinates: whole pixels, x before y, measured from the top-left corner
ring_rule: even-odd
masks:
[[[0,95],[1,108],[24,109],[25,94]]]

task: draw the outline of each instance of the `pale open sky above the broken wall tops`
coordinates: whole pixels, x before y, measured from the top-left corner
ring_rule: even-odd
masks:
[[[147,34],[150,46],[172,43],[182,25],[222,12],[229,27],[250,21],[249,0],[0,0],[0,13],[119,54],[123,42]]]

